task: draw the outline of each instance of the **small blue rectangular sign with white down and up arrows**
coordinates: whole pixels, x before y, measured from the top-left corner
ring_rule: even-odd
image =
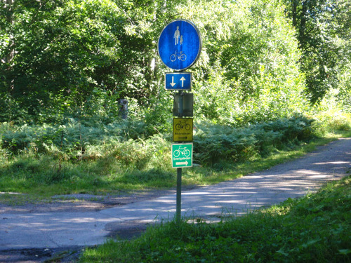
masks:
[[[164,87],[166,90],[191,90],[192,74],[189,72],[166,73]]]

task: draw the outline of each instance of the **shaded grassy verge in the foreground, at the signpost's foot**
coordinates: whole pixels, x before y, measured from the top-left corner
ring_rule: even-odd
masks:
[[[80,262],[351,262],[351,177],[217,224],[167,222]]]

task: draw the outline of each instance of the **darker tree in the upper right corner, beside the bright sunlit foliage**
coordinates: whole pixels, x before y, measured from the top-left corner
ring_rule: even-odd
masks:
[[[291,0],[286,5],[303,54],[300,62],[306,76],[307,95],[314,104],[329,89],[338,87],[340,70],[350,61],[351,3]]]

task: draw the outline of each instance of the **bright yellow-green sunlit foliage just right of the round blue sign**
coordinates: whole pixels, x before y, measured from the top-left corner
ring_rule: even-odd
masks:
[[[279,1],[198,0],[178,9],[204,39],[191,69],[197,116],[241,124],[305,109],[298,43]]]

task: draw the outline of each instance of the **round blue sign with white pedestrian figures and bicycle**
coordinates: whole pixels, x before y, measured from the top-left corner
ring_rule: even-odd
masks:
[[[184,70],[197,61],[202,41],[199,29],[187,20],[174,20],[159,36],[159,56],[164,65],[175,70]]]

